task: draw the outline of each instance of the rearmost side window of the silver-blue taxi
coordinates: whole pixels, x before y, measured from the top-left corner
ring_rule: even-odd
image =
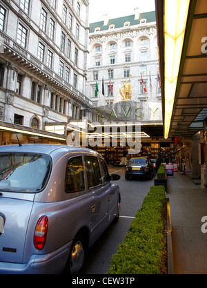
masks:
[[[82,157],[72,157],[66,167],[66,193],[83,191],[85,189]]]

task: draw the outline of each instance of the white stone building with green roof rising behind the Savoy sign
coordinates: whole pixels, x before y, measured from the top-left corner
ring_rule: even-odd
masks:
[[[90,24],[89,50],[86,93],[94,106],[121,101],[119,89],[126,80],[132,86],[131,100],[161,102],[155,11],[136,8],[135,15],[117,19],[104,15],[103,21]]]

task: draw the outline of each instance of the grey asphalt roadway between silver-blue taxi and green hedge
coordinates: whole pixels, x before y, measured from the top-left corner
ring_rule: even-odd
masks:
[[[119,184],[121,191],[121,211],[119,221],[110,225],[97,242],[91,247],[86,261],[81,269],[81,274],[104,274],[110,265],[110,258],[117,252],[117,246],[124,240],[130,222],[135,217],[137,210],[154,185],[152,180],[131,179],[125,180],[124,167],[108,166],[109,173],[121,176]]]

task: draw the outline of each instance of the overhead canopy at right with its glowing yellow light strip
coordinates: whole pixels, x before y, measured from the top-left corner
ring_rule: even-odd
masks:
[[[155,0],[164,137],[191,138],[207,117],[206,0]]]

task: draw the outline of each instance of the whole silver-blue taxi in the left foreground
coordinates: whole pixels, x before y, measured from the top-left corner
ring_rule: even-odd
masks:
[[[87,148],[0,146],[0,274],[78,273],[119,218],[119,186]]]

